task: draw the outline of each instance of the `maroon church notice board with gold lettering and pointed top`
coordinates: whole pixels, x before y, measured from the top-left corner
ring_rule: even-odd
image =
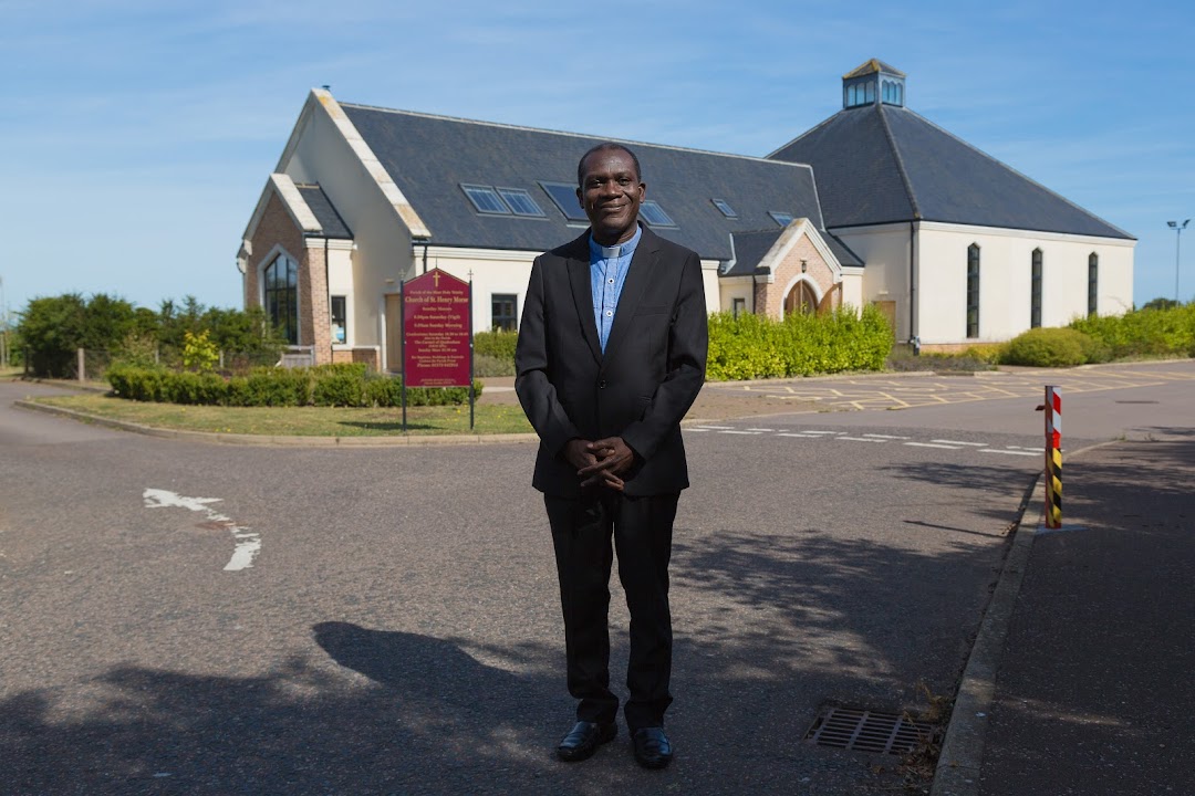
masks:
[[[403,284],[403,383],[470,385],[470,288],[433,269]]]

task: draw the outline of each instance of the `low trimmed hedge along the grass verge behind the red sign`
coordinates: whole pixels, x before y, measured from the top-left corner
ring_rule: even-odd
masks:
[[[315,368],[255,368],[247,376],[178,372],[165,368],[116,365],[106,374],[120,397],[159,403],[208,406],[344,406],[397,407],[403,402],[400,377],[368,374],[360,363]],[[482,382],[473,383],[480,397]],[[468,403],[468,389],[406,390],[407,406]]]

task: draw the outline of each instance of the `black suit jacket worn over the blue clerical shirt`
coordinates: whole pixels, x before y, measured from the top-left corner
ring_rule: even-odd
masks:
[[[588,230],[535,259],[515,352],[515,390],[540,438],[532,483],[580,495],[565,443],[621,437],[636,453],[626,494],[680,492],[688,486],[680,420],[705,381],[700,260],[644,227],[605,353],[592,295]]]

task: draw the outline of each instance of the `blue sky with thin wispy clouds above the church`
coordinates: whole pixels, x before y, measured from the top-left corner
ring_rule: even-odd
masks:
[[[907,104],[1139,239],[1175,291],[1195,217],[1178,2],[0,0],[4,301],[240,306],[234,257],[307,92],[765,155],[870,57]],[[1195,296],[1195,224],[1181,295]]]

